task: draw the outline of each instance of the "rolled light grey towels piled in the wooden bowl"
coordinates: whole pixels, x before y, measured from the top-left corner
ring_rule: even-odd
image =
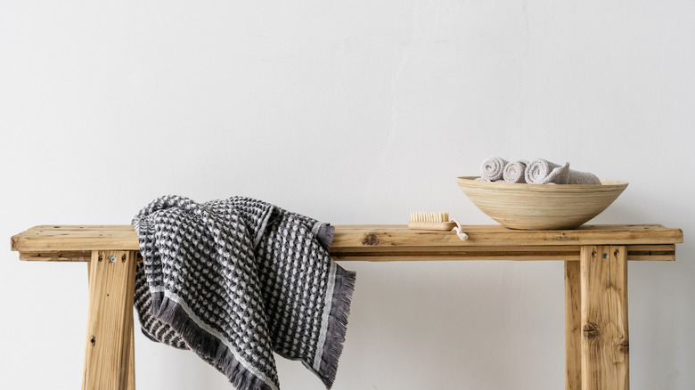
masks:
[[[531,162],[520,159],[509,162],[504,158],[486,158],[480,166],[480,178],[485,182],[529,184],[601,184],[596,175],[569,169],[543,158]]]

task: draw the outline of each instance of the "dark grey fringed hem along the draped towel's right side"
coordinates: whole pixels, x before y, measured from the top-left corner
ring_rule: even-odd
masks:
[[[323,344],[323,353],[318,367],[309,368],[321,378],[326,388],[331,388],[338,372],[338,361],[343,352],[343,343],[347,331],[347,317],[350,315],[350,303],[355,291],[356,272],[347,271],[335,264],[335,285],[331,297],[331,312]]]

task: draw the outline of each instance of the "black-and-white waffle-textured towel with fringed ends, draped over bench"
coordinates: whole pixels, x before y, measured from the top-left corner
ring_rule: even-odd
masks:
[[[179,196],[133,224],[145,336],[191,349],[240,390],[279,389],[273,352],[332,386],[356,277],[328,255],[332,226],[255,199]]]

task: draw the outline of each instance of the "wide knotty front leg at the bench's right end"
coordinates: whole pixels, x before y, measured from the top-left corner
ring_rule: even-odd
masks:
[[[628,390],[626,247],[583,246],[580,262],[582,389]]]

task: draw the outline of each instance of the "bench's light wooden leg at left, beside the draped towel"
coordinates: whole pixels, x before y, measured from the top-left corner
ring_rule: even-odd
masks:
[[[92,252],[84,390],[135,389],[133,251]]]

